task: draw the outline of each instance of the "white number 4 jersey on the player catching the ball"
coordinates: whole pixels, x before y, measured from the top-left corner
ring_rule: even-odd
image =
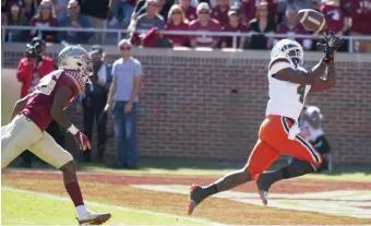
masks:
[[[297,121],[311,85],[295,84],[274,78],[275,73],[286,68],[306,71],[301,67],[296,69],[287,58],[277,57],[271,60],[268,68],[270,100],[266,106],[266,116],[278,115]]]

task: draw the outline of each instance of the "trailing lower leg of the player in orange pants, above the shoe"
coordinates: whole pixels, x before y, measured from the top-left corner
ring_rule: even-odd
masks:
[[[246,171],[244,169],[240,169],[224,176],[219,180],[215,181],[214,183],[203,189],[207,195],[212,195],[217,192],[232,189],[250,180],[251,179],[249,173]]]

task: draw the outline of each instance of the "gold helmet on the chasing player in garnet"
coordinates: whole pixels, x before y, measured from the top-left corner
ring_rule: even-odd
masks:
[[[85,84],[85,82],[89,82],[89,76],[93,72],[93,61],[83,47],[67,46],[58,55],[58,68],[77,70],[81,74],[81,78],[75,79],[77,80],[79,84]]]

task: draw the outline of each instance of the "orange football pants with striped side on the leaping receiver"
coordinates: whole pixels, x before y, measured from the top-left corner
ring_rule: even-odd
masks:
[[[252,179],[263,173],[277,159],[280,153],[288,154],[301,160],[320,165],[322,156],[300,134],[295,140],[289,140],[289,130],[294,122],[282,116],[268,116],[259,130],[259,140],[252,150],[247,167]]]

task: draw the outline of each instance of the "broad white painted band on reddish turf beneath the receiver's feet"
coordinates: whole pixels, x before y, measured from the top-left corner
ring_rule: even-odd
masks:
[[[153,191],[160,191],[160,192],[170,192],[170,193],[181,193],[181,194],[188,194],[188,190],[185,186],[132,186],[140,189],[146,189],[146,190],[153,190]],[[349,194],[349,191],[334,191],[335,198],[338,199],[339,193],[347,193]],[[361,191],[366,192],[366,191]],[[322,192],[319,192],[321,194]],[[312,197],[314,193],[310,193],[309,197]],[[359,206],[371,206],[367,204],[371,204],[371,202],[357,202],[357,201],[337,201],[337,200],[331,200],[331,192],[326,192],[328,197],[326,197],[326,200],[310,200],[306,199],[306,193],[303,194],[297,194],[296,199],[294,199],[290,194],[282,194],[286,198],[289,198],[289,200],[285,200],[284,198],[282,200],[275,199],[270,200],[268,207],[277,207],[277,209],[285,209],[285,210],[296,210],[296,211],[306,211],[306,212],[319,212],[322,214],[327,215],[335,215],[335,216],[350,216],[356,218],[371,218],[371,210],[364,210],[359,209]],[[371,194],[371,193],[370,193]],[[301,195],[301,197],[299,197]],[[272,195],[274,197],[274,195]],[[299,197],[299,198],[298,198]],[[322,195],[323,197],[323,195]],[[223,198],[227,200],[234,200],[237,202],[253,204],[253,205],[262,205],[261,201],[259,200],[258,194],[255,193],[246,193],[246,192],[237,192],[237,191],[225,191],[222,193],[217,193],[215,198]],[[298,200],[298,199],[304,199],[304,200]],[[313,198],[312,198],[313,199]],[[360,204],[360,205],[359,205]]]

